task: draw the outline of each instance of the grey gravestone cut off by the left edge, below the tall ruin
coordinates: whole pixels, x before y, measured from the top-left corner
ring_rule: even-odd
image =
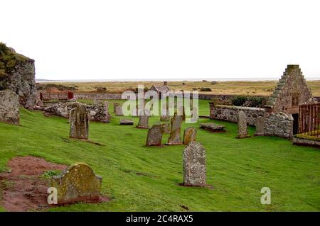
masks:
[[[0,91],[0,121],[19,125],[19,96],[9,89]]]

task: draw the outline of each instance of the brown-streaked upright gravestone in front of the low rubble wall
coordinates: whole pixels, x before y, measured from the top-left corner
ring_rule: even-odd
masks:
[[[89,136],[89,115],[85,105],[78,103],[78,106],[71,109],[69,115],[70,138],[87,139]]]

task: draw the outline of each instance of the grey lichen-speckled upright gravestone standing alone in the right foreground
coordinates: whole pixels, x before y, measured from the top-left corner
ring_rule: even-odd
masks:
[[[183,185],[206,186],[206,150],[199,142],[183,150]]]

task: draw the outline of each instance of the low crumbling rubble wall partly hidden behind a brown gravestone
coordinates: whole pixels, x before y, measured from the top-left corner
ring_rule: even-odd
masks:
[[[46,115],[57,115],[64,118],[69,117],[72,108],[76,106],[77,102],[57,102],[50,103],[49,106],[43,108]],[[90,120],[95,120],[102,123],[110,122],[110,113],[107,111],[106,103],[99,102],[93,105],[85,105],[87,111],[90,112]]]

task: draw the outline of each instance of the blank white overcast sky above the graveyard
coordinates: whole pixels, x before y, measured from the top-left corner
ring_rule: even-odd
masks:
[[[0,0],[37,79],[320,79],[319,0]]]

